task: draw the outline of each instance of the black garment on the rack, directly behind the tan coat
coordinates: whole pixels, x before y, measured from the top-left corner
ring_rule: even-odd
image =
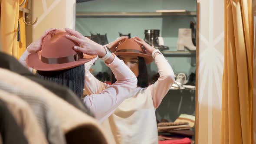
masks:
[[[4,54],[3,52],[0,52],[0,68],[9,69],[13,72],[25,76],[28,79],[33,80],[34,82],[39,83],[40,85],[43,85],[43,87],[47,88],[55,95],[69,102],[69,104],[75,106],[88,115],[92,115],[89,109],[86,108],[82,101],[71,90],[69,90],[69,88],[37,78],[35,75],[29,72],[28,69],[21,65],[19,61],[14,59],[12,56]]]

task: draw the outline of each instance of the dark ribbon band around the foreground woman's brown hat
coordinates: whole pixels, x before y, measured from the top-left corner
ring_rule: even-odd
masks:
[[[79,59],[82,59],[83,57],[84,55],[82,52],[79,52],[72,56],[65,56],[60,58],[46,58],[41,55],[41,61],[43,63],[48,63],[48,64],[62,64],[62,63],[68,63],[68,62],[75,62],[75,61],[78,61]]]

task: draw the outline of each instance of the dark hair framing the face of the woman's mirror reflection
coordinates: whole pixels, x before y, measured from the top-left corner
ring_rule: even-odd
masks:
[[[146,62],[143,57],[138,56],[139,60],[139,75],[137,77],[138,83],[137,85],[141,88],[146,88],[149,85],[148,80],[148,69]],[[116,82],[115,75],[112,73],[112,84]]]

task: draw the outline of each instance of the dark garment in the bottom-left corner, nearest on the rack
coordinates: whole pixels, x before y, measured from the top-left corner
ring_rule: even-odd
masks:
[[[0,100],[0,135],[3,144],[28,144],[22,129],[2,100]]]

